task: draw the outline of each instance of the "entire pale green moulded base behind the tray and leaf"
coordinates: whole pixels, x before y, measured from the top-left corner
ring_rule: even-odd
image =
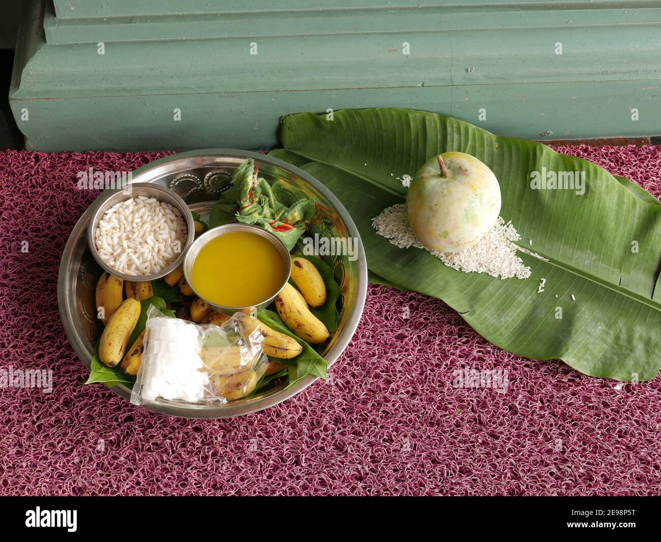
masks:
[[[214,2],[177,16],[146,13],[171,2],[64,4],[77,17],[60,15],[57,0],[37,2],[19,37],[10,102],[31,149],[266,148],[283,114],[372,106],[441,112],[527,139],[661,132],[661,9],[646,2],[340,10],[327,1],[251,15],[225,2],[231,13],[221,16]],[[127,18],[132,10],[142,11]]]

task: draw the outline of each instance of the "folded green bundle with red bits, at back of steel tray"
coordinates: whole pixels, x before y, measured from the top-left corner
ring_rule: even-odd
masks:
[[[221,194],[210,212],[209,226],[233,221],[253,224],[276,235],[291,251],[315,213],[314,198],[292,198],[292,189],[281,186],[280,181],[272,187],[258,176],[252,158],[241,163],[230,182],[231,187]],[[276,192],[281,191],[288,197],[278,199]]]

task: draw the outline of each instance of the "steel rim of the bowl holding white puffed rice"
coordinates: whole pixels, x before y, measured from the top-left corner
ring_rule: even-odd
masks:
[[[114,198],[118,196],[118,194],[122,194],[125,191],[122,188],[104,190],[104,192],[99,194],[97,199],[94,200],[94,202],[89,207],[93,208],[93,213],[90,215],[89,221],[87,223],[87,246],[94,259],[97,260],[97,264],[99,264],[104,271],[108,272],[108,274],[112,276],[116,276],[117,278],[121,278],[125,281],[128,280],[129,282],[147,282],[151,280],[157,280],[173,272],[178,266],[180,266],[180,264],[182,264],[184,258],[186,257],[186,251],[188,250],[188,247],[190,247],[190,245],[192,245],[195,241],[195,223],[193,219],[193,213],[190,212],[190,208],[188,208],[188,205],[186,202],[184,202],[181,196],[179,196],[179,194],[177,194],[174,190],[170,190],[165,186],[161,186],[161,184],[156,184],[155,182],[130,182],[129,184],[132,186],[132,188],[149,188],[163,194],[168,194],[171,196],[171,198],[173,198],[173,200],[175,200],[176,206],[179,212],[182,214],[182,217],[186,220],[186,227],[188,228],[188,232],[186,233],[186,243],[184,243],[184,246],[181,248],[181,252],[177,256],[176,260],[169,264],[169,266],[164,267],[160,271],[150,275],[128,275],[110,267],[98,255],[98,249],[95,243],[95,230],[97,229],[98,222],[101,219],[100,209],[108,200],[110,200],[110,198]],[[123,202],[136,197],[137,196],[128,194],[126,199],[120,201]]]

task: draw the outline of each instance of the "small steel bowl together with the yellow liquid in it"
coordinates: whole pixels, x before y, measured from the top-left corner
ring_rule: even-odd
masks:
[[[184,258],[184,276],[200,299],[226,314],[266,307],[292,271],[287,247],[275,235],[249,224],[206,231]]]

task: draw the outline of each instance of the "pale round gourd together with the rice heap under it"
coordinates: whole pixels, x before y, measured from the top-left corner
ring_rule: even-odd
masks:
[[[453,269],[528,278],[516,253],[528,251],[514,244],[521,237],[499,212],[500,186],[490,169],[470,155],[445,153],[420,168],[406,204],[383,210],[372,225],[396,247],[426,249]]]

